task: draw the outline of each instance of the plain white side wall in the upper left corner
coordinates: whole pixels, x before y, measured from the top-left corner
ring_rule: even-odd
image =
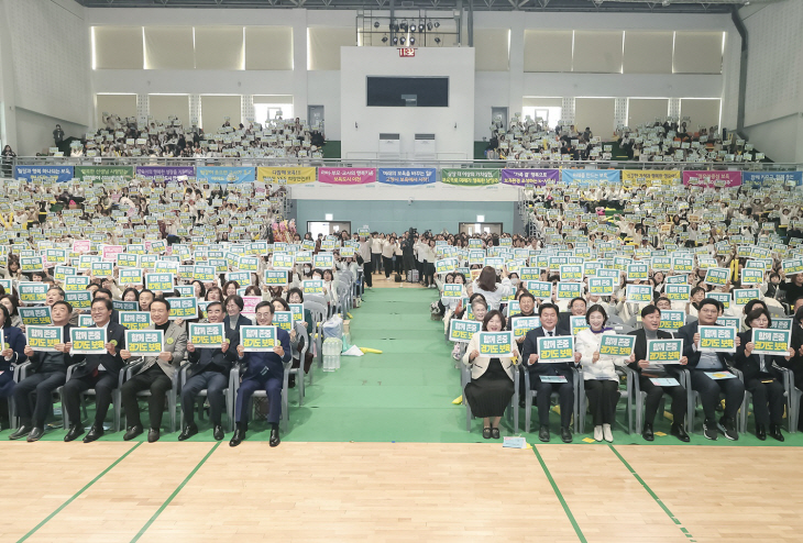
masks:
[[[73,0],[0,0],[0,35],[2,133],[16,154],[47,147],[56,123],[67,136],[81,136],[92,117],[84,8]],[[41,138],[44,123],[51,125]]]

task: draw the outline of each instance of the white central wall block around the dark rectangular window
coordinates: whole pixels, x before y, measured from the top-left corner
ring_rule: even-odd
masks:
[[[369,157],[387,132],[400,134],[403,156],[413,156],[415,134],[432,133],[439,157],[473,157],[473,48],[420,47],[400,58],[393,47],[342,47],[340,55],[341,156]],[[449,107],[369,108],[367,76],[448,76]]]

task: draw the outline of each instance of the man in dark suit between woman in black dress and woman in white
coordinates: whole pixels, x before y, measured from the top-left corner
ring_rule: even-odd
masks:
[[[538,439],[549,441],[549,403],[552,392],[560,397],[560,435],[564,443],[572,442],[572,432],[569,428],[574,406],[574,387],[571,368],[580,362],[580,353],[574,353],[574,363],[547,364],[538,362],[538,339],[560,336],[557,330],[559,310],[553,303],[542,303],[538,308],[541,325],[527,332],[521,348],[521,361],[530,375],[530,388],[537,392],[538,420],[540,430]],[[541,376],[562,376],[565,383],[542,383]]]

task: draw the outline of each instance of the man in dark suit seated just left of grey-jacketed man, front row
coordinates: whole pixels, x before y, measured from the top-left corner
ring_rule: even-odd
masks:
[[[90,443],[103,435],[103,419],[111,403],[111,391],[119,383],[120,370],[125,363],[120,357],[120,351],[125,348],[125,329],[111,321],[111,300],[98,298],[92,300],[91,315],[94,328],[106,329],[106,353],[74,356],[73,362],[84,359],[84,365],[73,372],[64,386],[64,409],[69,415],[70,426],[64,441],[73,441],[84,433],[80,420],[80,394],[90,388],[95,389],[95,423],[84,437],[84,443]],[[69,345],[72,348],[72,344]]]

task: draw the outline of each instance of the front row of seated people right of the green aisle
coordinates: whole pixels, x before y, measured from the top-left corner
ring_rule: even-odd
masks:
[[[522,291],[518,296],[521,315],[535,314],[535,298]],[[505,317],[498,310],[487,311],[487,304],[480,293],[470,300],[473,318],[482,321],[483,331],[505,330]],[[580,306],[580,304],[578,304]],[[663,306],[663,307],[662,307]],[[594,440],[613,442],[613,424],[616,405],[619,399],[619,376],[617,369],[627,366],[635,372],[640,390],[646,392],[644,426],[641,435],[646,441],[654,440],[653,423],[658,414],[661,398],[667,395],[671,399],[672,425],[671,434],[682,442],[689,442],[684,422],[688,409],[688,391],[680,385],[681,370],[688,369],[690,384],[694,392],[700,395],[703,407],[703,434],[708,440],[716,440],[722,432],[730,441],[738,440],[736,418],[741,408],[747,389],[752,395],[752,410],[756,420],[756,435],[759,440],[769,435],[784,441],[781,422],[784,412],[784,388],[781,367],[788,366],[794,356],[790,347],[787,356],[769,356],[752,354],[751,329],[767,329],[771,324],[770,313],[762,302],[757,301],[745,317],[747,331],[736,339],[736,353],[701,353],[698,326],[717,325],[717,318],[723,313],[722,302],[713,298],[703,299],[698,307],[698,320],[679,329],[675,335],[659,330],[661,309],[669,309],[669,300],[659,299],[656,304],[646,306],[640,314],[642,328],[628,332],[636,336],[632,354],[628,358],[604,356],[600,354],[602,336],[615,333],[607,328],[608,315],[601,303],[592,304],[585,312],[588,329],[578,333],[574,359],[568,363],[539,364],[538,337],[566,336],[571,332],[560,321],[560,311],[553,303],[538,307],[541,325],[519,337],[514,345],[513,357],[488,358],[480,355],[479,333],[472,336],[462,363],[471,368],[471,381],[465,386],[464,398],[472,413],[483,419],[483,437],[499,437],[499,420],[510,405],[514,395],[514,372],[521,368],[528,372],[530,390],[536,392],[536,405],[539,418],[538,436],[542,442],[550,441],[549,413],[552,392],[558,394],[560,407],[561,440],[571,443],[571,417],[574,405],[574,372],[582,369],[588,408],[594,422]],[[583,308],[585,304],[583,304]],[[463,317],[458,309],[457,318]],[[800,322],[800,319],[795,319]],[[507,325],[510,330],[510,324]],[[647,362],[647,342],[679,337],[683,340],[683,356],[680,364],[650,364]],[[518,368],[517,368],[518,366]],[[713,379],[712,373],[733,373],[740,370],[744,381],[738,378]],[[564,383],[544,383],[542,376],[558,376]],[[673,378],[678,385],[656,385],[652,379]],[[527,394],[521,380],[520,394]],[[724,414],[717,420],[716,409],[724,398]],[[524,399],[520,406],[524,406]],[[581,402],[581,409],[583,409]]]

